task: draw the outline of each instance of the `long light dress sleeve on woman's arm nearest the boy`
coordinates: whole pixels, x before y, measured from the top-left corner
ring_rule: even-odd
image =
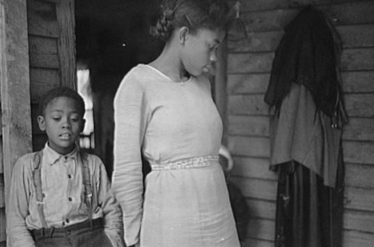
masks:
[[[126,76],[114,99],[114,174],[112,189],[123,210],[125,243],[137,244],[143,212],[141,146],[149,119],[141,84]]]

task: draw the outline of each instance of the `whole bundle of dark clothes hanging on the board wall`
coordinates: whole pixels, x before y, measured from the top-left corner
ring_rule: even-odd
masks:
[[[337,36],[325,16],[304,9],[285,28],[265,102],[271,121],[270,168],[279,174],[276,247],[341,246],[345,113]]]

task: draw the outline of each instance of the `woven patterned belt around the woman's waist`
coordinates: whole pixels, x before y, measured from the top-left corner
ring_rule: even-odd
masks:
[[[218,156],[201,156],[196,158],[188,158],[185,160],[178,160],[173,163],[166,164],[151,164],[153,171],[162,171],[162,170],[177,170],[177,169],[189,169],[189,168],[198,168],[214,165],[218,162]]]

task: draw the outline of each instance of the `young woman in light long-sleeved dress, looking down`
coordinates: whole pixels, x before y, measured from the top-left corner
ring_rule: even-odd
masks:
[[[207,73],[229,9],[223,0],[164,1],[162,54],[124,77],[114,100],[113,190],[127,246],[240,246],[218,162],[222,123]],[[152,171],[143,195],[141,154]]]

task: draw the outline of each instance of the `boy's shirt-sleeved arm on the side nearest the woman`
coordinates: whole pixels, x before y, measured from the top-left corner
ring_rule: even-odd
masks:
[[[104,232],[111,244],[116,247],[125,246],[123,239],[123,218],[120,205],[111,193],[110,181],[104,164],[100,161],[100,183],[98,183],[98,204],[104,214]]]

